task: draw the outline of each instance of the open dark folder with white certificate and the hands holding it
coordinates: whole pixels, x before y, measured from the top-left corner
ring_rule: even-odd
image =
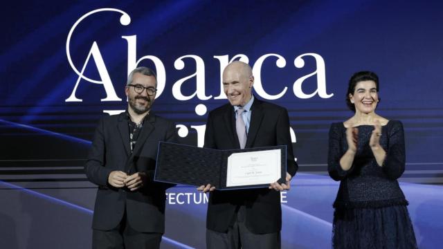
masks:
[[[198,190],[204,192],[287,189],[286,146],[217,150],[161,142],[154,180],[200,186]]]

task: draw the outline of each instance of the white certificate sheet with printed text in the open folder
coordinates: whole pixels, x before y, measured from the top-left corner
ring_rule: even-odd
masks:
[[[226,187],[269,184],[281,177],[281,150],[269,149],[231,154]]]

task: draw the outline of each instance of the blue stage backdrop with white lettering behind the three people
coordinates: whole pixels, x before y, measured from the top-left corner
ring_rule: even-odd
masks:
[[[253,67],[257,98],[286,107],[300,170],[282,193],[283,248],[330,248],[338,183],[327,131],[350,118],[347,80],[379,74],[377,111],[401,120],[399,179],[420,248],[443,233],[442,1],[5,1],[0,39],[1,248],[89,248],[96,124],[127,107],[127,74],[159,77],[153,111],[203,145],[227,102],[221,71]],[[153,145],[156,146],[156,145]],[[204,248],[207,196],[168,192],[162,248]]]

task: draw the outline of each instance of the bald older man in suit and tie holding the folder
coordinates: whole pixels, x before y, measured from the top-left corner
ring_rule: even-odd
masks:
[[[287,145],[286,183],[269,188],[217,191],[210,184],[197,190],[210,192],[206,220],[208,248],[280,248],[282,210],[280,191],[289,190],[298,165],[293,157],[287,110],[252,95],[252,69],[232,62],[223,72],[229,100],[209,113],[204,147],[243,149]]]

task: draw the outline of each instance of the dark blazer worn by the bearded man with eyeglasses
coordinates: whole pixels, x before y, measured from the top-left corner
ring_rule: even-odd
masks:
[[[173,122],[150,114],[131,154],[126,113],[105,116],[96,129],[88,160],[84,165],[89,181],[98,185],[92,228],[115,228],[127,212],[127,221],[138,232],[165,230],[165,190],[172,185],[153,181],[159,141],[177,142]],[[131,192],[107,182],[114,170],[134,174],[145,172],[147,184]]]

